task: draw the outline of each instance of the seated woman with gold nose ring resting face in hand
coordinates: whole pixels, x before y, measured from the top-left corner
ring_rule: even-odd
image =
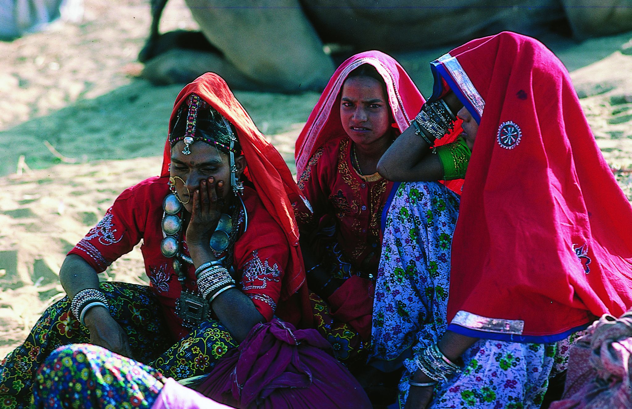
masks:
[[[104,346],[179,380],[210,372],[273,316],[311,325],[296,201],[283,158],[224,80],[186,85],[161,176],[126,189],[70,251],[59,274],[68,297],[0,364],[0,400],[27,405],[35,370],[64,344]],[[141,240],[150,286],[99,283]]]

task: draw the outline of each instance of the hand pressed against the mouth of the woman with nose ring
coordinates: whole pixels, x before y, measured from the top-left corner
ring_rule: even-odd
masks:
[[[200,180],[200,186],[193,191],[193,209],[191,220],[186,229],[186,244],[189,249],[195,246],[209,247],[210,235],[217,227],[222,215],[220,202],[224,197],[224,182],[215,182],[213,177]]]

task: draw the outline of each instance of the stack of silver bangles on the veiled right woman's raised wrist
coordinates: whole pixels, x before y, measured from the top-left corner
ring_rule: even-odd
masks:
[[[423,104],[411,125],[415,127],[415,134],[423,138],[432,147],[436,139],[441,139],[454,129],[456,116],[443,99],[434,103]]]

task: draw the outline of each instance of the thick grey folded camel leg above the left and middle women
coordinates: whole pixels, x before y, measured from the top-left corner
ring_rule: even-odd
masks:
[[[210,43],[245,77],[284,92],[322,89],[334,65],[300,3],[270,3],[186,0]]]

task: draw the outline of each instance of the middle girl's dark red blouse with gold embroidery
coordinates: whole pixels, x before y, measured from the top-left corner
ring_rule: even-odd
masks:
[[[353,271],[375,277],[380,261],[380,218],[392,182],[377,173],[362,176],[351,165],[351,143],[344,134],[318,149],[298,178],[313,213],[296,210],[305,230],[315,229],[324,215],[336,220],[336,238]]]

